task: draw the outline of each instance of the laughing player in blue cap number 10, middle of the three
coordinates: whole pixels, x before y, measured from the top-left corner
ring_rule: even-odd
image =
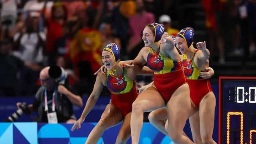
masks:
[[[178,50],[174,40],[164,32],[162,24],[152,23],[143,30],[145,47],[132,64],[144,65],[154,71],[152,86],[142,92],[132,104],[132,144],[138,144],[143,124],[143,112],[167,108],[170,138],[177,144],[190,144],[182,134],[190,111],[189,87],[182,71]],[[162,40],[161,40],[162,36]]]

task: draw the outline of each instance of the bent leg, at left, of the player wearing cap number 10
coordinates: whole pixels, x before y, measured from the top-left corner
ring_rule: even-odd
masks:
[[[143,112],[163,108],[165,102],[156,88],[150,87],[142,92],[132,104],[131,133],[132,144],[138,144],[143,124]]]

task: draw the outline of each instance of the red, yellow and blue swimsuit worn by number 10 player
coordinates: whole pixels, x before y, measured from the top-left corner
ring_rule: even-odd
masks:
[[[154,85],[166,103],[170,100],[172,94],[186,83],[181,61],[172,60],[162,54],[160,50],[155,52],[150,48],[147,65],[154,71]]]

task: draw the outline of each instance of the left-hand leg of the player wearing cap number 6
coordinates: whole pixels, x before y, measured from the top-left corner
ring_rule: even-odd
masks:
[[[120,110],[114,106],[114,104],[108,104],[100,118],[100,121],[90,132],[86,140],[86,144],[96,144],[106,129],[120,123],[122,119],[122,113]]]

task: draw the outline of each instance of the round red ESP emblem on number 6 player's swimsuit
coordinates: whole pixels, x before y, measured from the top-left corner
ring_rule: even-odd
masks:
[[[111,75],[108,75],[108,84],[107,87],[111,92],[121,92],[125,90],[127,82],[124,80],[124,77],[121,75],[118,78],[114,78]]]

